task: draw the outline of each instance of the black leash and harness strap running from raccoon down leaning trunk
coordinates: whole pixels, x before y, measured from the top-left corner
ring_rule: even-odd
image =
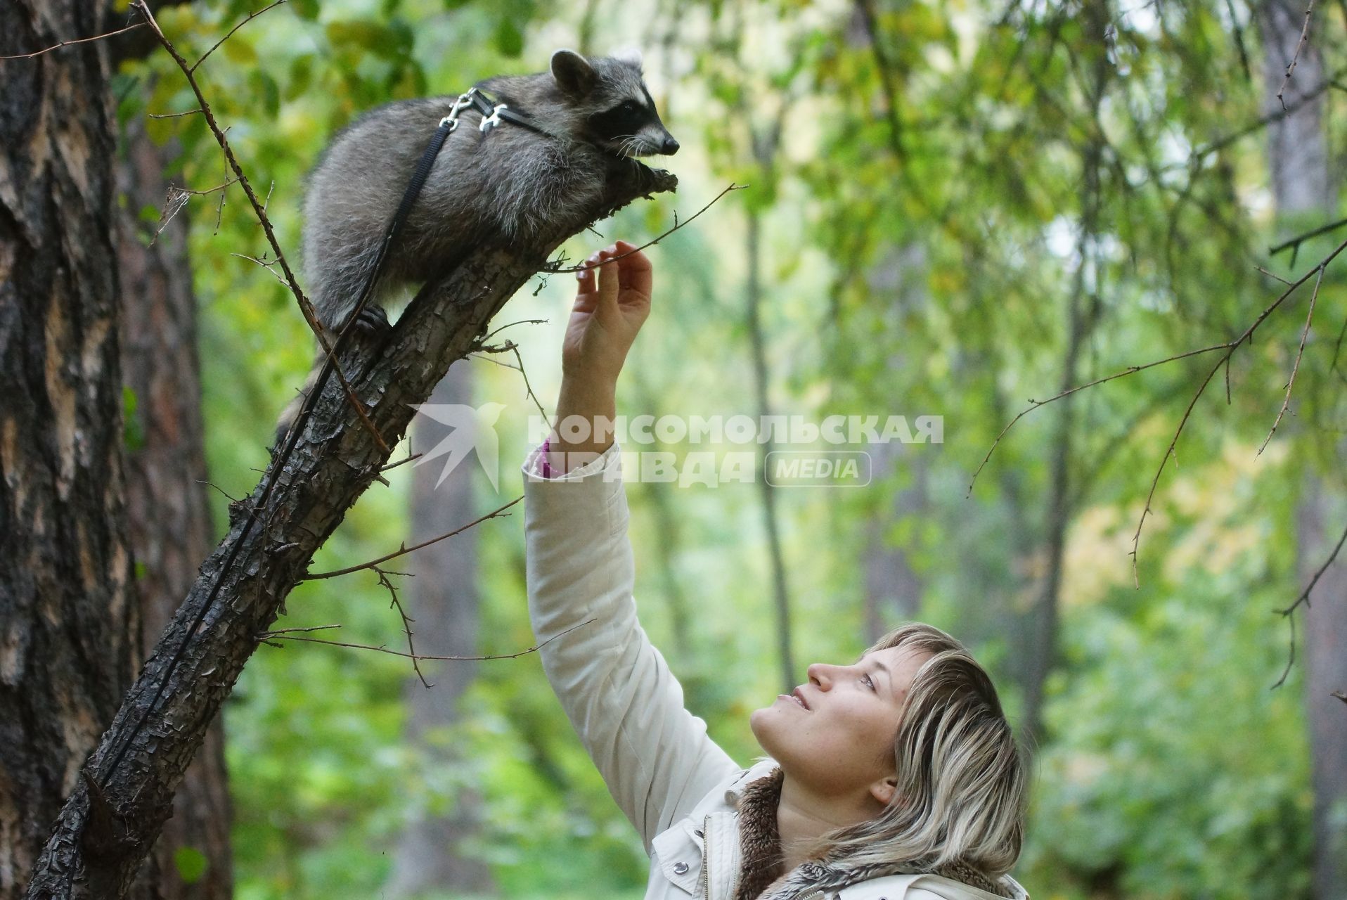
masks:
[[[509,109],[505,104],[497,104],[492,101],[490,97],[484,94],[478,88],[469,88],[467,93],[462,93],[458,96],[458,98],[454,101],[453,108],[449,110],[449,115],[439,120],[439,128],[436,128],[435,133],[431,135],[430,144],[426,146],[426,152],[422,154],[420,162],[416,163],[416,170],[412,172],[412,178],[407,183],[407,190],[403,193],[403,201],[401,203],[397,205],[397,212],[393,213],[393,218],[388,222],[388,229],[384,232],[384,240],[379,247],[379,256],[374,259],[374,265],[370,269],[369,276],[365,279],[365,287],[361,288],[360,299],[356,302],[356,307],[352,311],[350,318],[342,326],[341,333],[333,342],[331,352],[326,356],[323,371],[319,375],[318,381],[314,384],[314,388],[308,392],[308,397],[304,400],[304,406],[295,415],[295,420],[291,423],[290,431],[286,434],[286,446],[276,457],[275,468],[277,470],[282,466],[284,466],[286,458],[290,457],[291,450],[294,450],[295,447],[295,442],[299,438],[299,431],[304,423],[306,414],[311,408],[310,404],[322,392],[323,385],[327,383],[327,377],[331,375],[333,366],[337,365],[337,352],[345,344],[346,333],[354,327],[356,317],[358,317],[361,310],[365,309],[365,303],[369,300],[369,295],[374,290],[374,283],[379,280],[379,274],[384,268],[384,259],[388,256],[388,248],[392,247],[393,240],[396,240],[399,233],[401,233],[403,225],[407,224],[407,217],[411,214],[412,207],[416,205],[416,198],[420,197],[422,189],[426,187],[426,179],[430,178],[430,170],[435,166],[435,159],[439,156],[439,151],[445,147],[445,141],[449,140],[449,136],[458,129],[458,115],[469,106],[481,113],[482,120],[478,124],[478,131],[481,131],[484,135],[489,133],[502,121],[508,121],[515,125],[521,125],[524,128],[528,128],[529,131],[537,132],[539,135],[548,133],[544,129],[535,125],[528,116],[517,113],[513,109]],[[268,488],[264,496],[268,496],[269,493],[271,489]],[[241,544],[242,539],[248,536],[248,531],[251,529],[252,523],[256,521],[256,516],[257,511],[253,509],[249,513],[248,523],[244,525],[242,532],[240,532],[238,535],[237,539],[238,543],[234,544],[236,550]],[[229,569],[230,565],[233,565],[233,556],[225,560],[225,565],[221,569],[222,570]],[[206,613],[210,610],[211,604],[214,604],[216,596],[218,594],[222,582],[224,582],[224,573],[221,571],[220,578],[216,581],[214,587],[211,587],[210,596],[206,598],[206,602],[202,604],[201,612],[197,613],[197,617],[193,620],[191,626],[187,629],[187,636],[182,639],[182,643],[178,645],[178,649],[174,653],[172,659],[168,660],[168,670],[160,679],[159,687],[155,690],[155,695],[150,701],[150,705],[145,706],[144,710],[141,711],[140,719],[136,722],[136,726],[131,730],[131,736],[127,737],[117,748],[116,753],[113,753],[110,764],[104,767],[100,761],[100,765],[96,767],[96,773],[101,769],[101,777],[102,777],[101,787],[106,787],[110,783],[112,773],[117,769],[117,765],[125,757],[127,750],[131,749],[131,745],[135,742],[136,736],[140,734],[140,729],[144,728],[145,719],[150,718],[150,714],[154,711],[155,706],[159,705],[159,699],[163,697],[164,687],[168,686],[168,680],[172,678],[174,670],[178,668],[178,663],[182,659],[183,651],[187,648],[187,644],[191,643],[191,639],[197,635],[197,629],[201,628],[201,622],[205,620]],[[93,780],[93,784],[96,787],[100,787],[98,780]]]

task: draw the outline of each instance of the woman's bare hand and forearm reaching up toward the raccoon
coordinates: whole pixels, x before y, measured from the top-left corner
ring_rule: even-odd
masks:
[[[607,450],[617,418],[617,376],[651,314],[653,268],[634,244],[617,241],[577,272],[578,291],[562,342],[562,392],[547,462],[567,472]],[[624,256],[625,255],[625,256]],[[621,256],[613,260],[612,257]]]

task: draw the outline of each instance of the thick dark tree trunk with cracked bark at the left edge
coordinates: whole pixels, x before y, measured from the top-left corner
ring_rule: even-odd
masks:
[[[97,34],[0,5],[0,55]],[[19,897],[140,662],[101,43],[0,62],[0,899]]]

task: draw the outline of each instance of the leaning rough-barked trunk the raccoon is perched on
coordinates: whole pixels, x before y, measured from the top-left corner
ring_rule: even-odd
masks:
[[[559,224],[533,245],[474,251],[422,290],[379,348],[343,353],[341,365],[387,446],[407,428],[411,404],[426,401],[450,362],[473,349],[492,315],[546,268],[548,253],[566,237],[643,194],[675,185],[667,172],[614,159],[606,195],[594,209]],[[361,424],[337,379],[329,379],[294,454],[279,470],[273,461],[236,507],[229,534],[201,566],[127,693],[90,757],[89,780],[75,787],[61,811],[28,897],[123,896],[261,633],[389,453]],[[101,787],[90,790],[90,783]]]

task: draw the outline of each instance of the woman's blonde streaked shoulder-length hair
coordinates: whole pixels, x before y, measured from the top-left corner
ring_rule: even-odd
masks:
[[[897,647],[929,653],[893,741],[897,790],[884,812],[823,835],[811,856],[846,868],[963,864],[1004,874],[1020,857],[1028,779],[997,688],[939,628],[907,624],[866,652]]]

